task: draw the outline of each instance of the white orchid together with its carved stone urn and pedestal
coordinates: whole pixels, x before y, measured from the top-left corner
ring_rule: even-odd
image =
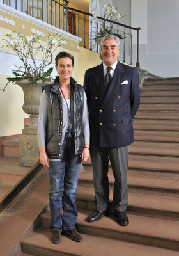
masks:
[[[12,70],[15,77],[8,77],[6,86],[13,82],[18,84],[24,92],[24,105],[22,109],[30,114],[29,127],[22,130],[19,136],[20,143],[20,166],[33,166],[38,161],[38,109],[42,86],[52,83],[51,72],[53,68],[48,66],[52,63],[52,54],[61,44],[66,41],[60,35],[54,33],[48,35],[46,46],[40,42],[42,35],[26,36],[17,32],[4,35],[3,47],[12,49],[19,56],[22,65]],[[6,89],[0,89],[4,92]]]

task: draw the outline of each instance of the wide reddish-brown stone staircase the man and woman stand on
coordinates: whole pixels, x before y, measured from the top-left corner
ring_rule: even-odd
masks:
[[[51,243],[49,211],[42,227],[22,240],[20,255],[179,255],[179,79],[148,81],[134,120],[136,141],[130,146],[128,168],[129,225],[120,227],[113,214],[95,223],[86,217],[95,209],[92,166],[79,174],[77,229],[82,242],[61,236]],[[114,178],[109,168],[113,198]],[[28,254],[28,255],[29,255]]]

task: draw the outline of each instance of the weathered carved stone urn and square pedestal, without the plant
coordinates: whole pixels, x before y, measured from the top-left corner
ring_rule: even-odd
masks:
[[[19,85],[24,92],[24,105],[22,106],[22,109],[26,114],[29,114],[29,117],[31,118],[29,127],[22,129],[22,134],[19,135],[19,166],[33,166],[39,160],[37,131],[42,86],[51,84],[52,82],[39,80],[34,85],[31,84],[29,80],[24,79],[16,81],[15,83]]]

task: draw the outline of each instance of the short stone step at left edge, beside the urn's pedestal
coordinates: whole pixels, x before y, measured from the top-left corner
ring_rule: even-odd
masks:
[[[2,141],[3,157],[20,157],[19,138]]]

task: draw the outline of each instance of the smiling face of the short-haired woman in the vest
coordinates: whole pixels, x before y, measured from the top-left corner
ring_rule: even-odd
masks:
[[[58,66],[56,65],[56,70],[60,79],[70,79],[72,71],[74,70],[72,60],[68,57],[58,59]]]

